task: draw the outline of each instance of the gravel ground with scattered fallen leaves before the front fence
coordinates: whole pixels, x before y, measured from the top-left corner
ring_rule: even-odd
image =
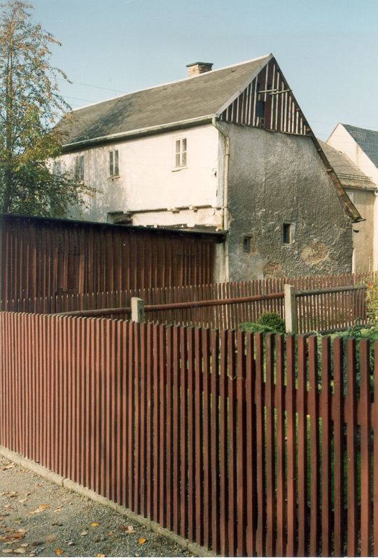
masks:
[[[0,556],[193,556],[0,456]]]

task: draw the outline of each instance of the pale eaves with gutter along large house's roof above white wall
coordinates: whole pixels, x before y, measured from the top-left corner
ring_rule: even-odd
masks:
[[[81,146],[89,146],[92,144],[105,144],[109,141],[122,140],[124,138],[132,138],[139,136],[147,136],[148,134],[159,134],[160,132],[165,132],[169,130],[175,130],[177,128],[188,128],[197,125],[205,125],[211,123],[211,120],[215,115],[205,115],[196,118],[190,118],[186,120],[177,120],[174,123],[165,123],[163,125],[155,125],[152,127],[139,128],[135,130],[127,130],[125,132],[116,132],[115,134],[106,134],[105,136],[90,138],[86,140],[80,140],[77,142],[71,142],[69,144],[63,144],[62,148],[64,151],[75,150]]]

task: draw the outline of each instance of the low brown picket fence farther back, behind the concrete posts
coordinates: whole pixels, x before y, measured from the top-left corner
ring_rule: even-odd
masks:
[[[8,300],[2,309],[31,313],[59,313],[109,307],[130,307],[132,297],[141,297],[146,304],[198,302],[224,300],[250,295],[283,292],[285,283],[296,290],[314,290],[335,286],[357,286],[365,281],[363,274],[330,276],[303,276],[297,278],[251,280],[228,283],[179,286],[176,288],[145,288],[99,293],[70,293],[27,300]],[[283,297],[279,300],[262,300],[220,305],[150,311],[149,321],[173,324],[202,325],[209,328],[238,328],[241,323],[253,322],[266,311],[284,316]],[[125,316],[124,318],[128,318]],[[334,294],[302,295],[297,298],[298,332],[332,330],[353,325],[359,319],[366,321],[365,291],[349,290]]]

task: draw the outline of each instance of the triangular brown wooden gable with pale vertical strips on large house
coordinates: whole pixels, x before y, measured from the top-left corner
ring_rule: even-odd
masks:
[[[221,120],[288,134],[311,134],[276,59],[272,57],[237,97],[221,109]]]

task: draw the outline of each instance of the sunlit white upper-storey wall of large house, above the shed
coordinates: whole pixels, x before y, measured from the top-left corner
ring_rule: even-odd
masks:
[[[176,140],[183,138],[187,162],[176,167]],[[109,212],[132,211],[135,225],[222,229],[223,155],[218,144],[218,130],[204,125],[83,149],[63,155],[62,162],[73,173],[74,158],[84,155],[84,181],[97,190],[82,211],[83,219],[106,222]],[[114,150],[119,176],[110,177],[109,151]],[[78,217],[76,209],[70,214]]]

